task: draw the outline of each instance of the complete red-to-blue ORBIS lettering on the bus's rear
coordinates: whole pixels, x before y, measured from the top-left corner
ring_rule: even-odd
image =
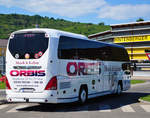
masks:
[[[45,70],[12,70],[11,76],[45,76]]]

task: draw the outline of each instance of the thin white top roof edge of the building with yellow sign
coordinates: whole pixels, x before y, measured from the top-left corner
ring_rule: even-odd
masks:
[[[111,27],[124,27],[124,26],[135,26],[135,25],[150,25],[150,21],[141,21],[141,22],[131,22],[123,24],[111,24]]]

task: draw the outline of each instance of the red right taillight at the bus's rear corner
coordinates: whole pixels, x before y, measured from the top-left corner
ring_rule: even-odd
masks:
[[[45,87],[45,90],[57,90],[57,77],[56,76],[51,78],[51,80],[48,82],[47,86]]]

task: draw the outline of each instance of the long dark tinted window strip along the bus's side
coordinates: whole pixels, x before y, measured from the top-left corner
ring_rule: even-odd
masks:
[[[61,36],[58,46],[60,59],[89,59],[104,61],[129,61],[124,48],[110,44]]]

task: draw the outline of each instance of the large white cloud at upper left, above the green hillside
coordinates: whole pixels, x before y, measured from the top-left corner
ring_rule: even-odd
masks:
[[[67,17],[94,13],[105,5],[105,0],[0,0],[0,5],[20,7],[39,13],[49,12]]]

